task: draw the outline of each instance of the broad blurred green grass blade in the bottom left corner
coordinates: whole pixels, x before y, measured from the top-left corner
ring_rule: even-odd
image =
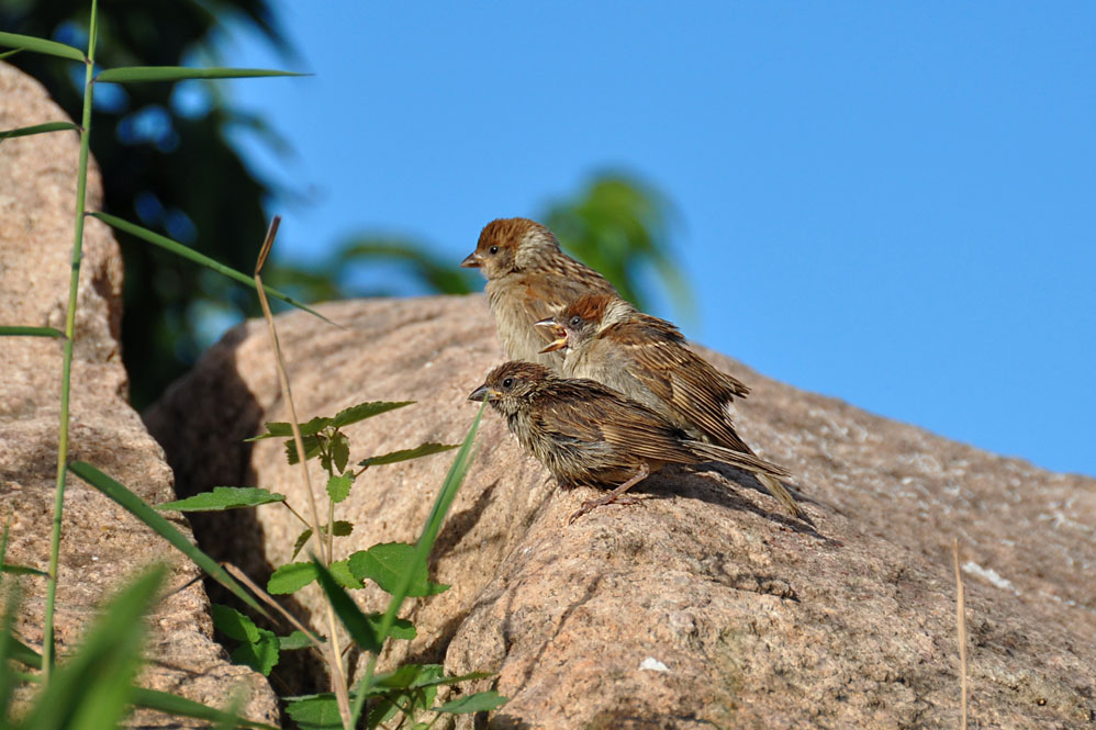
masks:
[[[156,568],[111,600],[80,649],[58,665],[24,719],[35,730],[113,728],[125,715],[141,666],[147,614],[166,571]]]

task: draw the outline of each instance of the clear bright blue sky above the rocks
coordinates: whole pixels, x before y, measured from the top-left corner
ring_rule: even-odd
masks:
[[[799,388],[1096,474],[1096,4],[282,2],[222,63],[295,149],[280,245],[484,223],[591,175],[664,191],[692,339]]]

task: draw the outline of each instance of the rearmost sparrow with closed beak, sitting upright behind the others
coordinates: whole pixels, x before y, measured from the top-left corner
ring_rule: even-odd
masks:
[[[540,351],[551,337],[533,323],[581,294],[616,294],[600,273],[561,251],[548,228],[528,218],[487,224],[460,266],[487,277],[488,302],[506,356],[553,369],[562,357]]]

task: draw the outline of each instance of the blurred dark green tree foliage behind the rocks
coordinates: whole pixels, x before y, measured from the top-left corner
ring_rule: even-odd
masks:
[[[0,0],[0,27],[81,46],[88,12],[87,0]],[[195,56],[216,59],[219,19],[225,16],[258,32],[292,60],[294,50],[282,37],[269,0],[112,0],[100,9],[97,59],[104,67],[181,66]],[[5,60],[37,78],[70,117],[79,119],[78,65],[27,53]],[[268,223],[265,203],[286,191],[248,169],[231,138],[241,128],[262,136],[276,149],[288,148],[265,120],[234,110],[211,83],[190,81],[186,89],[170,83],[124,89],[101,85],[91,151],[102,171],[103,210],[251,271]],[[670,212],[650,186],[609,173],[551,204],[538,220],[556,232],[566,250],[602,271],[644,308],[650,303],[652,278],[660,279],[678,303],[689,303],[670,251]],[[260,312],[250,291],[125,234],[115,235],[125,261],[123,358],[131,401],[139,409],[193,364],[221,327]],[[474,243],[469,239],[468,250]],[[335,243],[331,250],[294,266],[275,258],[264,279],[305,302],[467,293],[482,285],[476,272],[457,267],[468,252],[463,249],[440,255],[436,247],[411,238],[360,235]],[[366,268],[396,276],[378,285],[356,276]]]

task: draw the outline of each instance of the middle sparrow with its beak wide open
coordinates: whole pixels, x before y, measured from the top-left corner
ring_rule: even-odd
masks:
[[[658,411],[693,438],[753,454],[735,431],[736,396],[750,390],[685,346],[675,326],[636,311],[619,296],[585,294],[537,325],[556,339],[545,349],[564,352],[561,372],[589,378]],[[795,517],[802,510],[779,480],[758,480]]]

